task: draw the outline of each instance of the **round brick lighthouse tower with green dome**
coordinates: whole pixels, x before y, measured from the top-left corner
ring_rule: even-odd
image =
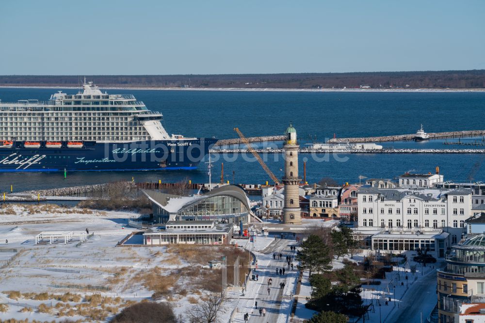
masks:
[[[296,140],[296,129],[291,125],[285,132],[285,206],[283,208],[284,224],[301,224],[300,193],[298,184],[301,178],[298,176],[298,142]]]

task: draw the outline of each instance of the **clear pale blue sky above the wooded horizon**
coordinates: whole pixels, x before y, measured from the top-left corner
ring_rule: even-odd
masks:
[[[484,0],[0,1],[0,75],[484,68]]]

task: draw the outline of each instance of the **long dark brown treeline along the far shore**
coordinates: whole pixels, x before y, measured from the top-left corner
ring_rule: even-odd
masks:
[[[221,75],[86,75],[100,87],[485,88],[485,70]],[[78,86],[80,76],[4,75],[0,85]]]

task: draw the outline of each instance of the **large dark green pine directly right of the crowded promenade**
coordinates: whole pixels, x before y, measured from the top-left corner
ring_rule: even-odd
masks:
[[[301,243],[300,247],[300,250],[296,254],[296,260],[300,261],[298,269],[308,270],[309,276],[314,271],[322,272],[332,269],[330,265],[332,261],[330,249],[323,243],[322,238],[310,234],[307,240]]]

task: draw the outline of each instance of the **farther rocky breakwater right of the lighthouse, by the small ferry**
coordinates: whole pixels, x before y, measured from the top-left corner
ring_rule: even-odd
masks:
[[[483,136],[483,135],[485,135],[485,130],[465,130],[465,131],[428,133],[429,139],[476,137],[476,136]],[[415,136],[416,135],[413,133],[413,134],[380,136],[380,137],[332,138],[328,142],[329,143],[375,143],[375,142],[383,142],[383,141],[414,140]]]

